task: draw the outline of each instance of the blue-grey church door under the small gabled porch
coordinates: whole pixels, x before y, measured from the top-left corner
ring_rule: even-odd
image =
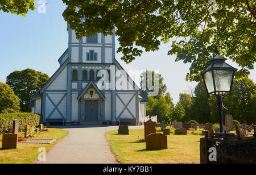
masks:
[[[85,101],[84,114],[85,122],[98,122],[98,101]]]

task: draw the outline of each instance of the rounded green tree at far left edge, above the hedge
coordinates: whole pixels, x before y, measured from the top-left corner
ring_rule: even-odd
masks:
[[[19,110],[19,98],[13,89],[0,82],[0,113],[17,113]]]

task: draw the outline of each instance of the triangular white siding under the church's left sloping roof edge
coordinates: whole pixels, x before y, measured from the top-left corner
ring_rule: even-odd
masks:
[[[51,82],[47,90],[67,90],[67,66]]]

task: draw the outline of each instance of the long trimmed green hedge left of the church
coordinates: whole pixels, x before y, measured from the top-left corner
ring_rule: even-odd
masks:
[[[10,113],[0,114],[0,134],[10,133],[13,130],[13,120],[19,120],[19,131],[24,131],[27,123],[42,123],[42,115],[34,113]]]

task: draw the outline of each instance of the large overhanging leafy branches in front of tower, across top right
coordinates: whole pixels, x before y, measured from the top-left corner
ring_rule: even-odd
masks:
[[[191,64],[187,80],[201,81],[215,45],[223,56],[242,67],[245,77],[253,69],[255,53],[255,1],[217,1],[217,12],[209,12],[209,0],[202,1],[110,1],[63,0],[68,8],[64,19],[77,38],[96,32],[118,36],[122,60],[131,62],[144,51],[156,51],[161,42],[172,42],[168,55]],[[83,19],[83,20],[81,20]]]

